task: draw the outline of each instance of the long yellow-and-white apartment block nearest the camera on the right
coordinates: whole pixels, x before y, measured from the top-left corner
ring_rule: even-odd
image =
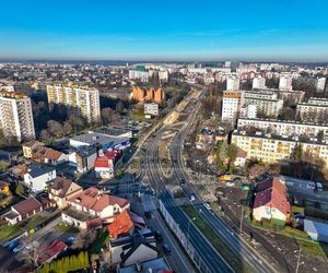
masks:
[[[277,135],[257,131],[249,133],[235,130],[232,143],[247,153],[247,159],[257,158],[268,164],[290,161],[296,145],[301,145],[303,153],[321,158],[328,166],[328,141],[315,138]]]

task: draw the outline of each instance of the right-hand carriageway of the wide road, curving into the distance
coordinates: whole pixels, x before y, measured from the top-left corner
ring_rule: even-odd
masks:
[[[212,211],[207,210],[200,197],[191,190],[191,178],[185,171],[185,165],[183,162],[183,146],[187,134],[192,128],[192,123],[197,117],[198,110],[199,105],[196,105],[196,109],[190,112],[187,122],[175,135],[169,149],[172,161],[174,162],[174,177],[176,179],[176,183],[179,185],[180,181],[185,181],[185,185],[183,186],[185,193],[189,197],[194,194],[196,198],[196,200],[191,202],[194,207],[200,212],[202,218],[212,227],[214,233],[230,247],[230,249],[247,264],[247,268],[251,269],[253,272],[259,273],[274,272],[273,268],[221,217],[219,217]]]

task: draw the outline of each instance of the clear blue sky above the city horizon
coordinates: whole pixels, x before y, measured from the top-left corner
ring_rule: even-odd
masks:
[[[327,0],[10,0],[0,8],[0,59],[328,61]]]

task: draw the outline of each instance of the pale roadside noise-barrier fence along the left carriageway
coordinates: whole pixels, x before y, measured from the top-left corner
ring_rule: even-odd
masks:
[[[188,235],[186,235],[181,229],[179,224],[175,222],[175,219],[172,217],[169,212],[166,210],[165,205],[163,204],[162,200],[160,200],[160,211],[162,215],[164,216],[164,219],[171,230],[175,234],[181,246],[185,248],[186,252],[188,253],[189,258],[192,260],[192,262],[196,264],[198,270],[203,273],[212,273],[212,271],[207,265],[207,262],[199,256],[199,253],[194,248],[191,241],[188,238]],[[190,223],[189,223],[190,224]],[[191,225],[194,225],[191,223]]]

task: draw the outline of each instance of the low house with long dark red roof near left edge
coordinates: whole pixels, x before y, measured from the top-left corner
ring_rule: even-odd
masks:
[[[49,205],[49,200],[44,198],[31,197],[13,206],[11,206],[11,211],[4,215],[5,221],[9,224],[15,225],[36,213],[44,210]]]

